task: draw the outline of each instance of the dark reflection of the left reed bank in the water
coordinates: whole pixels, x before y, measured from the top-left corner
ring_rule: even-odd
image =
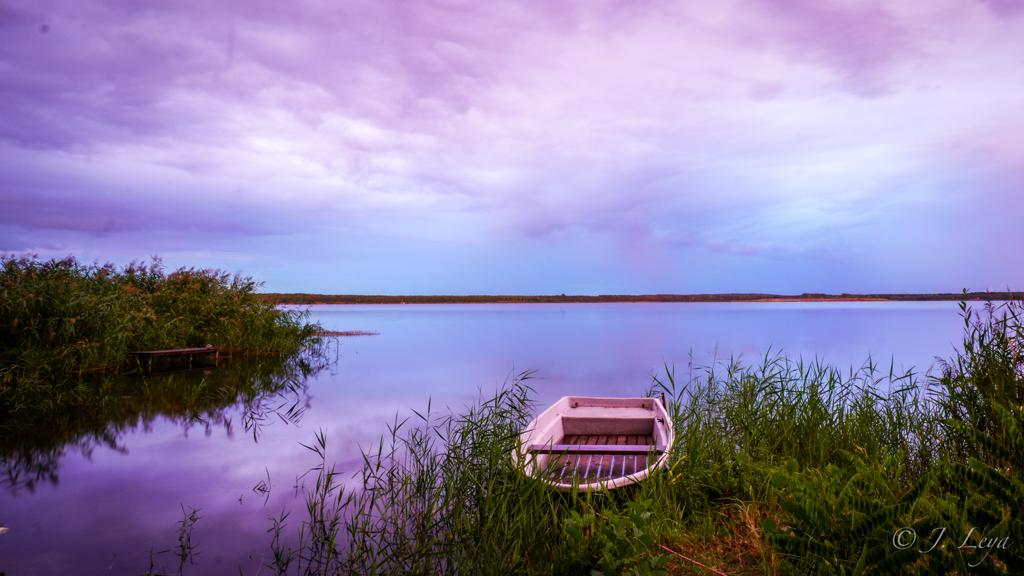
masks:
[[[217,368],[92,382],[92,389],[101,392],[75,390],[65,402],[4,423],[0,484],[13,495],[34,492],[40,484],[55,486],[69,455],[91,460],[97,448],[127,454],[123,439],[151,431],[158,419],[207,437],[215,429],[233,437],[241,424],[258,442],[268,423],[302,419],[309,407],[306,379],[328,364],[324,351],[312,349],[286,359],[244,359]]]

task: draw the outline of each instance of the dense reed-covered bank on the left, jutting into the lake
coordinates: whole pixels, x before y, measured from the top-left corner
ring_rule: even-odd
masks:
[[[317,327],[259,298],[249,278],[75,259],[0,259],[0,422],[96,393],[90,375],[135,368],[130,353],[213,344],[222,355],[284,357]],[[95,382],[95,385],[89,384]],[[44,407],[45,408],[45,407]]]

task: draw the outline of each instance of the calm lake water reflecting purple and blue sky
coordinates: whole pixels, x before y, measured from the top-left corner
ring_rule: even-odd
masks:
[[[270,550],[268,518],[295,510],[291,533],[303,518],[296,477],[315,458],[299,443],[323,429],[330,459],[354,470],[360,445],[396,413],[428,401],[434,411],[459,410],[514,371],[537,371],[541,406],[567,394],[639,395],[665,364],[684,373],[691,355],[700,364],[729,356],[757,362],[771,349],[842,367],[870,356],[886,371],[892,362],[925,373],[936,357],[953,353],[963,325],[954,302],[309,310],[325,328],[379,334],[339,339],[330,368],[288,394],[257,399],[263,410],[228,400],[198,418],[182,416],[174,400],[128,403],[112,410],[117,422],[106,431],[94,431],[101,422],[77,424],[93,431],[71,426],[45,451],[0,442],[16,452],[0,462],[0,526],[9,528],[0,535],[0,573],[139,574],[151,560],[176,572],[182,506],[201,517],[193,531],[197,564],[186,574],[259,573]],[[246,377],[216,372],[211,381]],[[265,418],[258,438],[245,425],[254,412]],[[267,479],[268,492],[254,490]]]

